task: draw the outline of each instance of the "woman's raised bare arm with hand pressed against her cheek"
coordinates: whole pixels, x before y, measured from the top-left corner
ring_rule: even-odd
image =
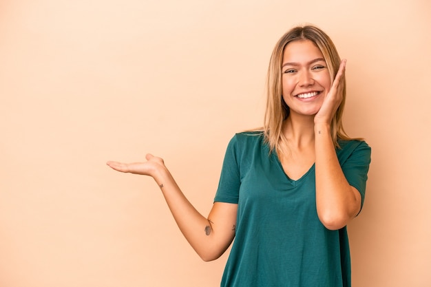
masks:
[[[338,87],[345,68],[344,60],[341,61],[333,85],[315,116],[317,215],[322,224],[331,230],[346,226],[361,209],[361,194],[346,180],[330,132],[330,122],[342,100]]]

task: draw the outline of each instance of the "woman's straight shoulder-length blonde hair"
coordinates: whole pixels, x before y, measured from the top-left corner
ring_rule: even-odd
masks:
[[[325,32],[313,25],[304,25],[292,28],[280,38],[274,47],[269,61],[268,75],[266,78],[266,111],[264,117],[263,133],[270,150],[283,152],[287,140],[282,133],[283,122],[288,118],[289,107],[282,98],[282,61],[284,49],[288,43],[299,40],[310,40],[322,52],[331,79],[331,84],[337,74],[341,59],[333,41]],[[351,140],[344,131],[341,116],[346,102],[346,80],[343,78],[339,88],[343,94],[343,100],[339,105],[330,125],[335,147],[339,147],[337,140]]]

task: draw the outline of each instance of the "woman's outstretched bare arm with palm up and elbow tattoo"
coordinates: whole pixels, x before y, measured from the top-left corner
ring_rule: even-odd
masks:
[[[238,204],[215,202],[208,218],[205,218],[187,200],[163,160],[151,154],[146,158],[147,162],[107,162],[107,165],[116,171],[154,178],[180,231],[196,253],[204,261],[220,257],[235,237]]]

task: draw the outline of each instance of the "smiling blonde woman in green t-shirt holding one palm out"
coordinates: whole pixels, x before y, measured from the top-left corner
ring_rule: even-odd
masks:
[[[319,28],[282,36],[269,64],[264,127],[229,142],[208,217],[161,158],[107,164],[154,178],[205,261],[235,237],[221,286],[350,286],[346,224],[364,202],[370,147],[348,138],[341,124],[345,67]]]

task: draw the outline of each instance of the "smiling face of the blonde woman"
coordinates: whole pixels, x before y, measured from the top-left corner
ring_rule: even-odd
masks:
[[[288,43],[282,62],[282,92],[291,116],[317,114],[329,89],[329,70],[319,48],[310,40]]]

